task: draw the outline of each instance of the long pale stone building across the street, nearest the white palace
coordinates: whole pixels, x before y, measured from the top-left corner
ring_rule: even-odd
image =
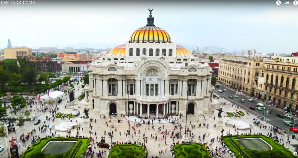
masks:
[[[258,76],[262,76],[263,58],[221,56],[218,80],[242,92],[256,96]]]

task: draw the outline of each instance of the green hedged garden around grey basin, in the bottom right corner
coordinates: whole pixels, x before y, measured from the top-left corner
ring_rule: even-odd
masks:
[[[268,144],[272,146],[272,150],[259,152],[256,150],[250,150],[240,145],[240,143],[236,139],[243,139],[243,138],[262,138]],[[260,136],[260,135],[233,135],[233,136],[224,136],[223,140],[226,145],[229,146],[230,150],[233,151],[238,158],[242,158],[243,154],[246,157],[268,157],[268,158],[280,158],[280,157],[296,157],[293,155],[293,152],[285,148],[285,146],[281,145],[280,143],[273,141],[272,138],[267,136]],[[240,153],[240,154],[239,154]]]

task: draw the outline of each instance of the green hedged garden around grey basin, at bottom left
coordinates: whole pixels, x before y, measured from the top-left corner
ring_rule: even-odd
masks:
[[[29,150],[26,150],[21,158],[27,158],[27,157],[34,157],[34,153],[41,151],[41,149],[49,142],[49,141],[77,141],[72,150],[69,150],[63,154],[57,154],[56,157],[80,157],[81,154],[84,154],[86,151],[86,147],[89,145],[90,138],[84,137],[84,138],[77,138],[77,137],[44,137],[39,139],[35,144],[31,145],[31,148]],[[40,157],[42,158],[42,157]]]

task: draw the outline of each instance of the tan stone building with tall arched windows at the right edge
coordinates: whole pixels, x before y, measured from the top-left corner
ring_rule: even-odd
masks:
[[[258,92],[259,98],[271,103],[291,107],[292,111],[298,109],[298,57],[272,56],[264,64],[264,85],[262,91]]]

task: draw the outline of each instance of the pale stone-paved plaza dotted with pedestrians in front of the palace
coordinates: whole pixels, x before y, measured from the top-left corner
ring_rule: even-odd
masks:
[[[78,94],[78,92],[81,93],[82,91],[81,90],[77,91],[77,89],[76,89],[75,93]],[[222,103],[227,102],[223,98],[220,98],[219,101]],[[74,103],[76,103],[76,102],[77,101],[74,101]],[[72,109],[66,109],[64,107],[65,104],[66,104],[66,99],[64,97],[63,101],[60,104],[57,104],[57,107],[59,108],[59,110],[57,112],[70,114],[72,112]],[[232,107],[230,105],[221,105],[221,107],[223,108],[223,111],[224,111],[222,113],[222,116],[227,115],[227,114],[225,114],[226,112],[232,112],[232,111],[236,110],[235,106]],[[38,108],[38,106],[37,106],[37,108]],[[77,105],[74,105],[74,108],[77,108]],[[80,118],[83,116],[83,108],[80,107],[78,109],[80,109],[80,111],[81,111],[80,115],[75,117],[74,119],[71,119],[71,120],[78,121],[79,123],[83,124],[83,118]],[[199,136],[203,137],[203,134],[206,134],[205,142],[207,142],[207,145],[209,146],[210,149],[215,150],[216,146],[218,148],[221,146],[220,142],[218,142],[216,140],[219,140],[219,137],[221,136],[221,130],[223,128],[225,130],[224,135],[229,134],[229,133],[236,134],[237,132],[239,134],[248,134],[249,133],[249,130],[244,130],[244,131],[236,130],[235,131],[235,128],[233,128],[232,126],[228,127],[226,125],[223,125],[223,127],[218,127],[218,126],[214,127],[214,125],[216,124],[218,111],[215,108],[214,109],[211,108],[209,110],[210,110],[209,115],[207,115],[207,116],[206,115],[205,116],[203,116],[203,115],[199,115],[199,116],[188,115],[187,116],[187,128],[189,128],[191,133],[194,134],[194,137],[193,138],[189,137],[189,140],[193,140],[195,142],[200,142],[198,137]],[[241,110],[243,112],[246,111],[245,109],[241,109]],[[212,111],[214,111],[213,114],[212,114]],[[32,112],[31,116],[32,117],[35,116],[35,112]],[[52,114],[50,114],[50,112],[43,112],[43,113],[38,112],[38,113],[36,113],[36,116],[38,116],[38,119],[41,119],[41,123],[39,125],[33,125],[33,123],[25,122],[23,127],[17,127],[18,136],[22,133],[26,134],[28,131],[32,131],[34,129],[36,130],[36,132],[33,134],[34,136],[40,135],[40,137],[45,137],[50,134],[49,129],[47,129],[45,133],[41,134],[41,132],[38,130],[38,127],[41,126],[42,123],[45,121],[46,116],[51,118]],[[79,135],[84,135],[85,137],[89,137],[90,136],[89,131],[91,131],[91,132],[93,132],[92,137],[95,137],[95,141],[100,142],[101,137],[104,136],[105,142],[111,143],[111,138],[108,136],[108,131],[111,130],[111,131],[113,131],[113,134],[114,134],[114,137],[112,138],[113,142],[125,142],[126,133],[128,130],[128,116],[121,117],[120,114],[118,114],[117,116],[106,115],[106,118],[104,119],[103,115],[94,116],[93,109],[90,109],[89,116],[94,119],[91,122],[92,129],[91,129],[91,127],[88,127],[88,128],[84,127],[83,130],[82,130],[82,128],[80,128]],[[213,120],[213,117],[215,117],[215,120]],[[252,129],[252,134],[257,134],[257,133],[259,133],[260,128],[255,127],[253,125],[254,118],[256,118],[255,115],[253,115],[253,114],[248,115],[247,112],[245,112],[245,116],[243,116],[241,118],[239,118],[239,117],[235,117],[235,118],[234,117],[223,117],[223,120],[224,120],[224,123],[226,122],[226,120],[229,120],[229,119],[245,121],[254,127]],[[169,119],[171,119],[171,117],[169,117]],[[181,124],[182,129],[179,130],[179,127],[178,127],[178,129],[174,130],[174,134],[176,134],[177,132],[178,133],[181,132],[182,134],[184,133],[186,116],[182,115],[181,118],[178,116],[173,116],[172,120],[170,120],[170,122],[173,120],[176,120],[175,124],[169,123],[169,119],[167,119],[167,120],[161,119],[160,123],[158,123],[157,119],[154,120],[153,118],[150,118],[150,119],[148,119],[148,120],[150,120],[150,125],[147,125],[147,124],[143,124],[142,123],[143,120],[140,120],[139,118],[137,118],[135,116],[130,117],[130,120],[131,120],[130,128],[131,128],[131,134],[133,135],[133,142],[143,143],[144,141],[142,138],[143,138],[143,134],[145,133],[145,137],[148,137],[148,141],[147,141],[147,143],[145,143],[145,145],[147,146],[149,157],[159,156],[159,151],[163,151],[163,154],[160,155],[159,157],[172,157],[172,155],[170,153],[171,143],[173,143],[173,141],[181,142],[181,140],[182,140],[181,138],[176,138],[175,140],[172,140],[170,138],[170,136],[171,136],[171,132],[174,130],[174,126],[177,126],[179,124]],[[95,123],[95,120],[96,120],[96,123]],[[121,120],[121,121],[119,121],[119,123],[118,123],[118,120]],[[151,125],[152,120],[153,120],[153,126]],[[46,125],[51,126],[55,123],[62,122],[62,121],[68,121],[68,120],[61,120],[59,118],[56,118],[56,120],[54,122],[46,121]],[[142,123],[141,126],[137,126],[136,124],[140,123],[140,121]],[[145,122],[146,121],[147,120],[145,120]],[[200,123],[201,123],[201,127],[199,128]],[[261,123],[264,123],[266,125],[266,122],[261,121]],[[206,124],[206,126],[203,126],[203,124]],[[191,125],[194,125],[195,127],[192,129]],[[112,128],[113,126],[114,126],[114,128]],[[135,130],[132,128],[133,126],[135,127],[134,128]],[[207,128],[207,126],[208,126],[208,128]],[[270,132],[268,130],[268,126],[271,127],[272,125],[267,124],[266,129],[261,128],[262,134],[266,135],[268,132]],[[161,130],[158,130],[159,128],[161,128]],[[116,129],[117,129],[117,131],[116,131]],[[162,131],[165,131],[165,130],[169,131],[169,135],[164,135],[165,137],[163,138]],[[97,132],[96,136],[94,135],[95,131]],[[105,131],[106,131],[106,135],[104,134]],[[54,131],[52,131],[52,132],[54,132]],[[120,135],[120,133],[121,133],[121,135]],[[75,136],[75,134],[76,134],[76,129],[71,131],[72,136]],[[58,135],[66,136],[67,134],[59,133]],[[151,135],[153,137],[151,137]],[[278,137],[280,137],[280,134],[277,134],[277,135],[278,135]],[[155,137],[157,137],[157,139],[155,139]],[[211,145],[210,141],[212,138],[215,139],[215,142]],[[30,136],[29,140],[31,140],[31,139],[32,139],[32,136]],[[0,141],[1,142],[4,141],[4,137],[2,137]],[[287,138],[285,135],[285,137],[283,139],[283,143],[285,144],[286,147],[289,147],[290,150],[294,151],[294,147],[287,144],[286,141],[287,141]],[[167,143],[165,143],[165,142],[167,142]],[[291,144],[293,144],[293,143],[297,143],[297,140],[291,139]],[[21,142],[21,147],[19,148],[19,153],[24,152],[28,145],[31,145],[30,141],[26,141],[26,143]],[[4,148],[7,148],[5,146],[6,145],[4,145]],[[98,150],[103,151],[103,150],[107,150],[107,149],[106,148],[96,148],[94,150],[94,152],[96,152]],[[167,151],[167,152],[165,152],[165,151]],[[7,157],[5,155],[7,155],[7,153],[2,151],[1,157]],[[226,154],[225,157],[230,157],[230,155]]]

